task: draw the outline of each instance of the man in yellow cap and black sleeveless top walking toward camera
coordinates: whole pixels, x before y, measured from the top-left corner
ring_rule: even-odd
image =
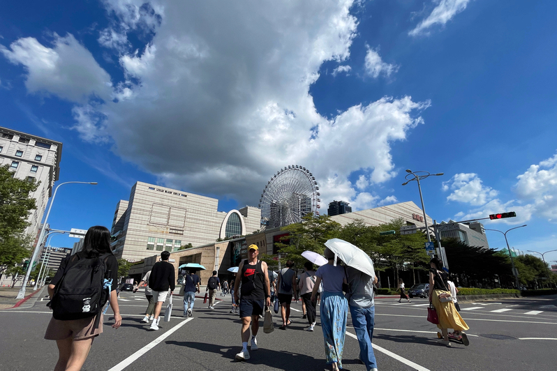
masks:
[[[234,287],[239,287],[242,281],[239,298],[236,291],[234,296],[239,303],[240,318],[242,318],[242,351],[236,354],[238,361],[247,361],[250,356],[248,352],[248,340],[250,340],[249,327],[251,323],[251,350],[258,350],[257,335],[259,331],[259,318],[263,314],[264,307],[271,305],[269,275],[267,273],[267,263],[258,259],[258,245],[249,245],[248,259],[240,263],[239,274],[236,275]]]

